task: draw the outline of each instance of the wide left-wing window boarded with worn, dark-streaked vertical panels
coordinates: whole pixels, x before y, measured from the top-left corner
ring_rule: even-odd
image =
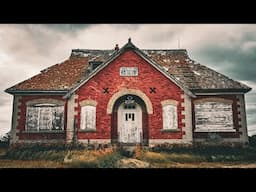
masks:
[[[64,106],[38,104],[27,106],[26,130],[63,130]]]

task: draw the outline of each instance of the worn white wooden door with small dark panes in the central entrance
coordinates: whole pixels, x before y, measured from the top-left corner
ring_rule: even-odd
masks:
[[[138,104],[130,109],[125,108],[125,104],[119,106],[118,141],[120,143],[141,143],[142,111]]]

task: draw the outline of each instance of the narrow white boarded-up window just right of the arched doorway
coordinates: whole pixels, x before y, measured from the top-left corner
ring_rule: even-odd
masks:
[[[177,129],[177,106],[164,105],[163,106],[163,129]]]

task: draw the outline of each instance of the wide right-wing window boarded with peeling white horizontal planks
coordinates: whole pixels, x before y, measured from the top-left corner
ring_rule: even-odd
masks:
[[[232,102],[196,103],[195,123],[196,131],[234,131]]]

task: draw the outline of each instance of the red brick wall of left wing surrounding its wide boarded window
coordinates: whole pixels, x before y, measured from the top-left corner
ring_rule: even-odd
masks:
[[[21,140],[41,140],[41,139],[65,139],[66,133],[24,133],[25,131],[25,125],[26,125],[26,102],[34,100],[34,99],[57,99],[61,101],[65,101],[62,96],[22,96],[19,100],[21,105],[19,105],[18,109],[20,112],[18,113],[18,126],[17,130],[19,130],[19,133],[17,133],[17,136]],[[66,117],[67,117],[67,102],[65,102],[65,119],[64,119],[64,130],[66,130]]]

